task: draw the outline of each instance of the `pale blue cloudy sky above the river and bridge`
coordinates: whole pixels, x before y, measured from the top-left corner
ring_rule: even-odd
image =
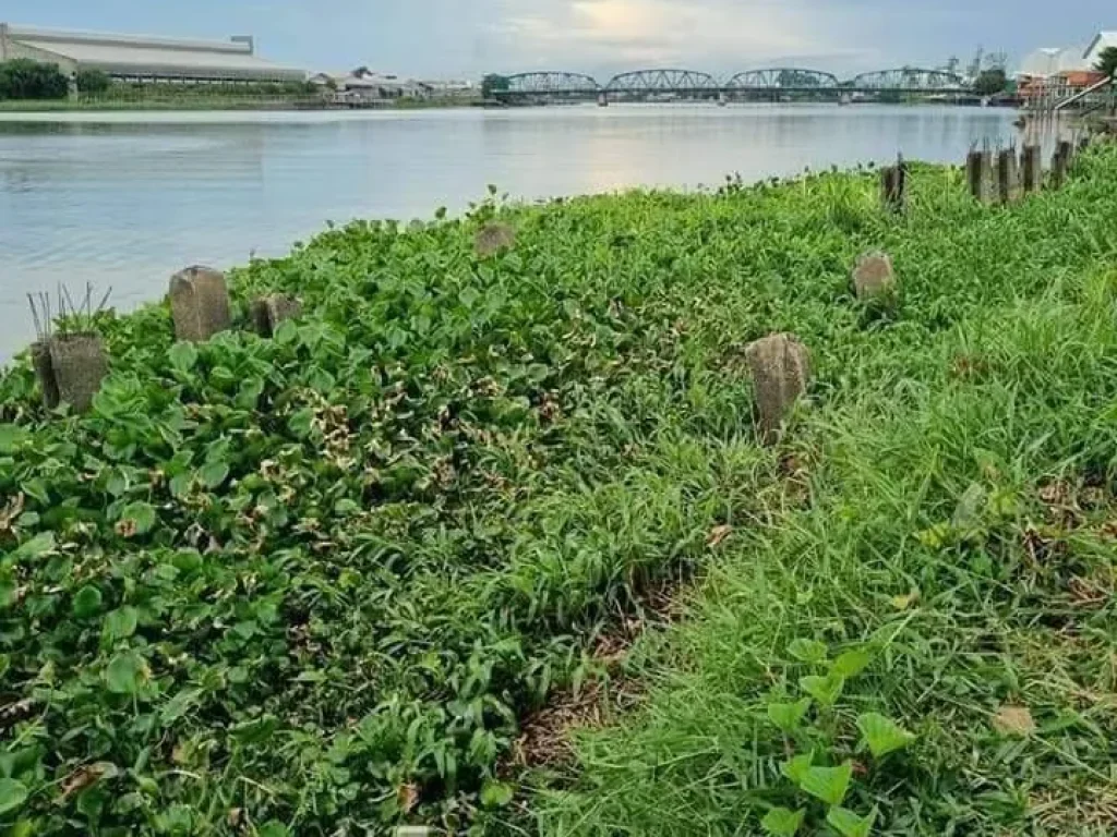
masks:
[[[1114,0],[3,0],[13,23],[169,37],[255,35],[305,69],[419,77],[800,65],[839,75],[1011,58],[1117,29]]]

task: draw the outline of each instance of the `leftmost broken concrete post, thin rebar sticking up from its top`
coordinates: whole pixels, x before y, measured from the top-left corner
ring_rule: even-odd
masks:
[[[65,402],[75,413],[86,412],[108,374],[105,341],[95,334],[61,334],[39,340],[31,346],[31,363],[48,410]]]

